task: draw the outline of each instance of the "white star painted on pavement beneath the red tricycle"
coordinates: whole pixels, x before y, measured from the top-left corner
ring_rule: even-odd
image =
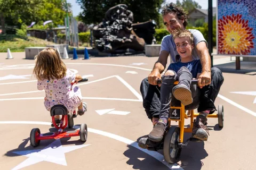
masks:
[[[13,152],[14,154],[26,156],[28,157],[28,159],[24,160],[22,163],[15,166],[13,169],[21,169],[23,167],[33,165],[42,161],[47,161],[47,162],[67,166],[65,153],[79,149],[79,148],[83,148],[86,146],[89,146],[89,145],[62,147],[60,139],[57,139],[43,149],[15,151]]]

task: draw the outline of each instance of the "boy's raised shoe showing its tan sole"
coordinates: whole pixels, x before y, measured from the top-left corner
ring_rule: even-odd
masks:
[[[184,106],[193,103],[191,91],[185,84],[174,86],[172,94],[177,100],[180,100]]]

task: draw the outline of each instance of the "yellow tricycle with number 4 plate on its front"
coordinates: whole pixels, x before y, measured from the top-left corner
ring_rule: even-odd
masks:
[[[158,79],[158,83],[161,83],[161,79]],[[174,86],[179,81],[174,82]],[[191,84],[197,84],[197,80],[192,80]],[[164,134],[163,143],[161,143],[161,149],[163,148],[164,159],[168,163],[177,163],[183,147],[188,145],[189,141],[197,141],[195,138],[189,138],[183,143],[184,132],[192,132],[194,117],[198,116],[198,113],[194,113],[194,110],[187,111],[185,106],[180,102],[180,107],[170,106],[170,116],[168,118],[168,127]],[[185,128],[185,119],[190,118],[190,128]],[[223,128],[224,112],[223,106],[218,106],[218,113],[209,114],[207,118],[218,118],[219,127]],[[179,126],[172,126],[171,121],[179,122]],[[159,148],[158,148],[159,149]]]

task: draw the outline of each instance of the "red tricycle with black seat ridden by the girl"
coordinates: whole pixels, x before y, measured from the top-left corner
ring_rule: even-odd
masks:
[[[84,78],[78,82],[85,82],[88,81],[87,78]],[[71,83],[71,86],[76,82]],[[73,131],[63,131],[67,126],[68,128],[73,128],[74,120],[73,118],[76,117],[76,111],[73,113],[68,113],[68,110],[63,105],[54,105],[50,111],[52,117],[52,126],[58,129],[57,132],[48,132],[42,133],[38,128],[34,128],[30,132],[30,145],[33,147],[37,147],[40,144],[41,140],[46,139],[60,139],[60,138],[67,138],[67,137],[76,137],[80,136],[82,142],[86,142],[87,140],[87,125],[81,124],[79,130]],[[60,125],[58,126],[55,122],[54,116],[61,115]]]

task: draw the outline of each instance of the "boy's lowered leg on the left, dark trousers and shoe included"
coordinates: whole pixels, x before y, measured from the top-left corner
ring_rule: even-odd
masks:
[[[161,141],[166,129],[169,113],[170,103],[172,97],[172,88],[174,81],[177,80],[177,74],[168,70],[162,77],[161,84],[161,109],[159,114],[158,123],[154,126],[153,130],[149,133],[148,138],[151,141]]]

